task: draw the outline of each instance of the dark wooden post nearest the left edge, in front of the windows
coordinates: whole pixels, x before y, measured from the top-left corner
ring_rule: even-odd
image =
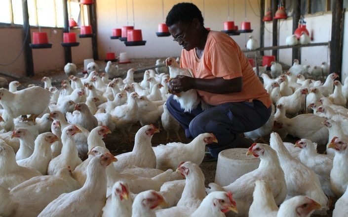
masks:
[[[33,51],[29,46],[32,38],[30,36],[30,26],[29,26],[29,13],[28,13],[28,1],[22,0],[22,13],[23,13],[23,33],[24,38],[24,56],[25,56],[25,66],[26,75],[34,76],[34,62],[33,62]]]

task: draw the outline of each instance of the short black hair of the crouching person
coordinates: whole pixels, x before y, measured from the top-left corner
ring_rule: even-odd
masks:
[[[197,18],[202,26],[204,25],[202,12],[196,5],[188,2],[178,3],[168,12],[165,24],[170,27],[178,22],[190,23],[194,18]]]

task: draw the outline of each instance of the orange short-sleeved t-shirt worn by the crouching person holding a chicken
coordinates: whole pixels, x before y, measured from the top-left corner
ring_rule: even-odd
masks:
[[[198,59],[195,49],[190,51],[183,49],[180,67],[191,68],[195,78],[232,79],[242,77],[241,92],[217,94],[197,90],[203,100],[211,105],[225,102],[251,102],[253,99],[258,99],[266,107],[271,106],[270,95],[256,76],[247,58],[238,44],[224,32],[209,32],[201,59]]]

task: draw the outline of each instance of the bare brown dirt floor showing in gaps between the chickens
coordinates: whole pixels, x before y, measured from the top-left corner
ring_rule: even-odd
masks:
[[[157,58],[151,58],[151,59],[131,59],[131,63],[125,63],[125,64],[118,64],[119,66],[119,70],[124,72],[124,76],[126,74],[126,71],[129,68],[135,68],[136,70],[139,69],[144,69],[145,67],[151,67],[155,65],[155,61]],[[163,59],[162,59],[163,60]],[[106,62],[104,61],[96,61],[97,64],[100,67],[100,72],[104,71],[104,68],[106,66]],[[116,63],[115,63],[116,64]],[[77,65],[77,71],[78,71],[78,75],[81,77],[83,76],[81,71],[83,69],[83,65]],[[144,70],[143,70],[144,71]],[[62,69],[58,69],[58,70],[53,70],[53,71],[45,71],[45,72],[41,72],[41,73],[37,73],[35,74],[34,77],[23,77],[21,79],[17,79],[19,82],[22,83],[22,88],[26,87],[28,84],[35,84],[35,85],[39,85],[43,87],[43,82],[41,82],[41,78],[43,76],[48,76],[51,78],[52,80],[52,85],[60,88],[61,86],[61,81],[63,79],[67,79],[68,77],[65,75],[63,68]],[[137,82],[140,82],[142,80],[142,73],[138,73],[135,74],[134,78]],[[9,81],[12,81],[14,79],[8,78]],[[21,87],[19,87],[19,89],[21,89]],[[134,138],[135,133],[137,132],[137,130],[140,128],[140,125],[134,125],[132,127],[132,136]],[[185,133],[184,130],[181,129],[179,131],[180,137],[183,140],[184,143],[189,143],[191,141],[191,139],[187,139],[185,137]],[[172,136],[175,139],[175,136]],[[126,143],[120,143],[122,137],[121,134],[118,132],[113,132],[112,134],[109,134],[106,139],[105,139],[105,143],[107,148],[114,154],[114,155],[118,155],[121,153],[125,153],[125,152],[129,152],[132,150],[133,148],[133,144],[126,144]],[[265,138],[266,141],[269,141],[269,137]],[[292,142],[294,143],[295,141],[297,141],[298,138],[294,138],[292,136],[287,136],[286,139],[284,141],[286,142]],[[174,140],[170,140],[169,142],[174,142]],[[153,146],[157,146],[159,144],[165,144],[166,143],[166,132],[161,129],[159,133],[155,133],[153,139],[152,139],[152,144]],[[215,179],[215,171],[216,171],[216,165],[217,162],[202,162],[202,164],[200,165],[204,175],[205,175],[205,184],[206,186],[211,183],[214,182]],[[312,215],[313,216],[313,215]],[[328,212],[327,216],[324,217],[331,217],[332,216],[332,211]],[[317,217],[317,216],[313,216],[313,217]]]

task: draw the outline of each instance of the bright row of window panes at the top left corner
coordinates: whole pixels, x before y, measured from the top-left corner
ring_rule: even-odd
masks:
[[[0,23],[23,25],[23,0],[1,0]],[[26,0],[28,3],[29,24],[39,27],[64,27],[63,0]],[[82,10],[80,10],[80,8]],[[88,6],[78,0],[68,0],[68,18],[88,25]],[[13,17],[13,18],[12,18]]]

